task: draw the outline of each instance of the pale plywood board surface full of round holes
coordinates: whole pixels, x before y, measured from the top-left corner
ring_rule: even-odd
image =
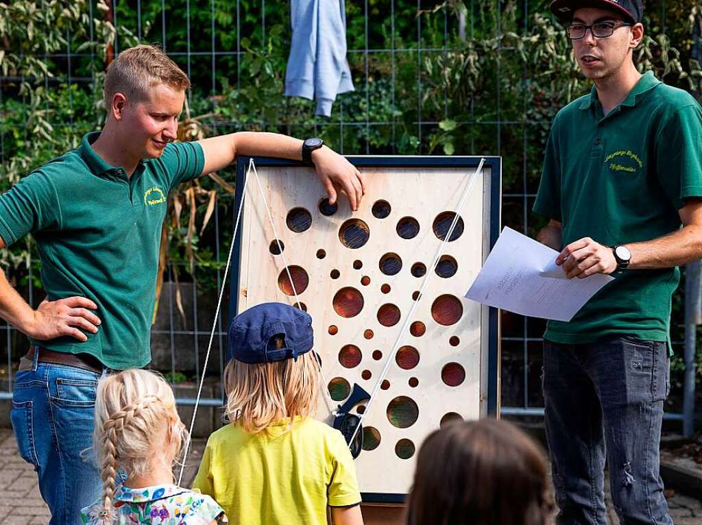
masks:
[[[371,392],[392,359],[390,350],[423,281],[422,267],[431,271],[441,243],[437,231],[440,236],[447,218],[450,223],[472,173],[363,169],[368,188],[359,211],[352,213],[342,197],[329,214],[324,203],[320,211],[326,194],[310,168],[258,168],[282,254],[253,175],[247,183],[239,311],[272,300],[295,302],[285,258],[300,303],[312,315],[324,380],[335,399],[320,402],[318,416],[328,421],[354,383]],[[482,176],[489,180],[488,168]],[[392,359],[386,383],[364,419],[366,449],[356,460],[364,493],[406,493],[423,439],[446,418],[480,416],[486,325],[481,307],[463,294],[487,246],[489,185],[483,182],[475,185],[461,212],[462,232],[448,244],[444,277],[433,275],[419,298],[411,331],[403,334],[404,348]]]

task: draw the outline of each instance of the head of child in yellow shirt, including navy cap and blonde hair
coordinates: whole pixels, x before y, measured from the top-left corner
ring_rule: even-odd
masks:
[[[317,411],[320,371],[313,344],[312,318],[297,308],[264,303],[234,317],[224,373],[230,421],[255,434]]]

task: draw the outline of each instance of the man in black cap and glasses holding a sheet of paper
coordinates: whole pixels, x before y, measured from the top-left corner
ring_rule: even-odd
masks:
[[[569,278],[612,274],[544,335],[545,423],[559,524],[672,524],[658,474],[677,265],[702,257],[702,109],[641,74],[640,0],[555,0],[595,86],[555,117],[534,211]],[[682,227],[681,227],[682,226]]]

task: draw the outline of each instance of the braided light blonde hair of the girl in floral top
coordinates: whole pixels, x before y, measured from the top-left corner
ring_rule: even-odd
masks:
[[[158,373],[131,368],[100,380],[93,444],[102,467],[102,524],[114,521],[118,467],[130,477],[143,476],[154,461],[171,467],[186,436],[173,390]]]

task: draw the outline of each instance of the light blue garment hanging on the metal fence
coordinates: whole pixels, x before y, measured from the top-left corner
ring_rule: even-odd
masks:
[[[346,60],[344,0],[292,0],[293,40],[285,94],[317,100],[317,115],[329,117],[339,93],[354,91]]]

